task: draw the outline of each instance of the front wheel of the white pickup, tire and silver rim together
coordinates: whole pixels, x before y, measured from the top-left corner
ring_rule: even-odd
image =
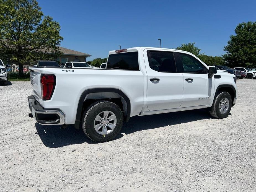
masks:
[[[211,116],[222,119],[226,118],[232,107],[232,98],[228,92],[221,92],[213,101]]]

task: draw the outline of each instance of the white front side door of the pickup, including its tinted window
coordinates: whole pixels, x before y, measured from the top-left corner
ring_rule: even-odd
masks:
[[[178,52],[175,54],[184,82],[183,102],[180,107],[209,105],[214,94],[214,77],[208,77],[208,69],[194,56]]]

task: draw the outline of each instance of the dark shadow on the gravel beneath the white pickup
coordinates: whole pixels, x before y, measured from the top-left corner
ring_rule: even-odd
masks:
[[[209,112],[205,110],[180,111],[140,117],[135,116],[131,117],[128,123],[123,124],[121,133],[130,134],[145,129],[155,129],[210,118]],[[40,139],[46,147],[57,148],[84,142],[88,144],[96,143],[84,134],[82,128],[77,130],[73,126],[68,126],[66,129],[60,129],[60,126],[44,126],[38,123],[35,123],[35,127]],[[121,133],[118,135],[117,139],[123,137]]]

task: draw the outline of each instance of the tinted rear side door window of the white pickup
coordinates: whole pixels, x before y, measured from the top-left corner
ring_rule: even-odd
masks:
[[[172,52],[149,51],[149,66],[159,72],[177,72]]]

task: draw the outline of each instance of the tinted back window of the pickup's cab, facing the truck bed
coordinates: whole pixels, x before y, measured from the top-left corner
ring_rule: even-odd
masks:
[[[109,55],[107,69],[139,70],[138,52]]]

